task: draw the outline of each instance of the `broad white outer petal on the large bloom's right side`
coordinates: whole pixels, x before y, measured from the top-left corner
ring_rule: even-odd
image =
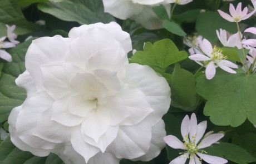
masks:
[[[151,123],[155,125],[170,107],[170,87],[164,77],[160,77],[149,66],[141,66],[136,63],[126,65],[125,82],[144,93],[147,102],[154,110],[151,113]],[[154,90],[152,90],[154,88]]]

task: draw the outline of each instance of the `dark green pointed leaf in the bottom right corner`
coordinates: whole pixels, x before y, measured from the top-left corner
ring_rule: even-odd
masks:
[[[256,161],[244,148],[232,143],[221,142],[220,144],[206,147],[204,150],[208,152],[208,155],[223,157],[238,164],[247,164]]]

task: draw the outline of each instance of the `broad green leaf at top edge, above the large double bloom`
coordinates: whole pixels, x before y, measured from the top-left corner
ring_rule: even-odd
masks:
[[[101,6],[95,10],[93,10],[91,6],[86,6],[82,1],[40,3],[37,7],[42,12],[51,14],[63,21],[74,21],[80,24],[91,24],[96,22],[109,23],[115,21],[114,17],[110,14],[104,13],[102,2],[100,0],[95,1],[95,3],[99,2]]]

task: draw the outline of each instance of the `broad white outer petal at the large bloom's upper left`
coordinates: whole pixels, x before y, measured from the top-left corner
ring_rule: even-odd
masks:
[[[32,41],[28,47],[25,65],[38,90],[44,89],[40,67],[44,64],[63,62],[70,41],[70,38],[61,36],[42,37]]]

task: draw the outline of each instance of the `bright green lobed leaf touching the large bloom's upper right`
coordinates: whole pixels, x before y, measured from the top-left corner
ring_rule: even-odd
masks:
[[[179,51],[173,41],[163,39],[154,44],[146,43],[144,51],[137,51],[132,56],[131,62],[149,65],[155,71],[163,73],[166,67],[187,57],[188,54],[185,51]]]

